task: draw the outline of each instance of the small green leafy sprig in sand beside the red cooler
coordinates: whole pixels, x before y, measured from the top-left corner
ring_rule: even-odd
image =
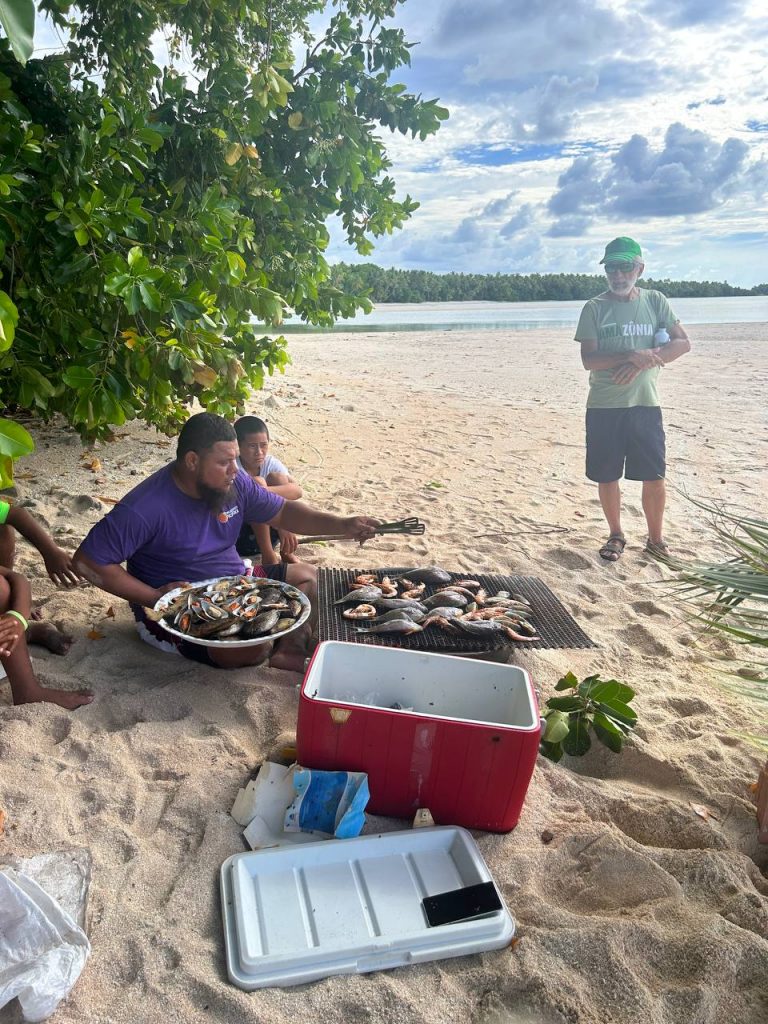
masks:
[[[550,697],[542,713],[547,724],[540,750],[545,758],[557,762],[563,754],[586,754],[592,745],[590,729],[614,754],[621,753],[625,736],[637,724],[637,715],[630,708],[635,696],[631,686],[599,676],[588,676],[580,683],[569,672],[555,689],[571,692]]]

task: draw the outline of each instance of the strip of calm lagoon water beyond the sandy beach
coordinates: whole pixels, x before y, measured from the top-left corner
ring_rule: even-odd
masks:
[[[672,299],[683,324],[768,323],[768,296]],[[333,328],[286,321],[286,333],[332,331],[525,331],[555,326],[575,327],[584,306],[568,302],[411,302],[386,303],[373,312],[340,319]]]

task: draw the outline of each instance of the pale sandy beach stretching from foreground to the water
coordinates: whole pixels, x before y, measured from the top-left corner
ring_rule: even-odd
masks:
[[[691,329],[662,371],[667,540],[719,549],[685,497],[765,514],[766,325]],[[87,686],[68,713],[13,708],[0,683],[0,859],[87,848],[92,954],[55,1024],[759,1024],[768,1019],[768,847],[754,794],[764,758],[740,734],[754,711],[720,685],[726,641],[680,613],[669,571],[643,551],[640,485],[624,487],[615,563],[584,476],[587,374],[572,331],[297,335],[293,364],[249,412],[317,508],[419,516],[423,537],[362,551],[315,544],[317,565],[437,564],[535,575],[599,645],[515,651],[543,698],[564,673],[631,685],[639,724],[624,752],[539,759],[518,826],[476,833],[517,923],[512,947],[418,967],[246,993],[229,984],[221,862],[244,849],[228,814],[255,768],[295,734],[300,677],[224,673],[142,643],[127,605],[57,591],[19,541],[35,604],[72,632],[65,657],[32,648],[41,681]],[[137,423],[83,449],[26,423],[16,501],[74,550],[130,487],[173,457]],[[702,813],[701,809],[708,813]],[[372,819],[368,830],[408,827]],[[0,1022],[20,1020],[17,1008]]]

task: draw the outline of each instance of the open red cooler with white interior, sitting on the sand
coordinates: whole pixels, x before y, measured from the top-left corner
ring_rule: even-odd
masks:
[[[328,641],[301,687],[298,761],[368,772],[373,814],[509,831],[541,724],[528,674],[449,654]]]

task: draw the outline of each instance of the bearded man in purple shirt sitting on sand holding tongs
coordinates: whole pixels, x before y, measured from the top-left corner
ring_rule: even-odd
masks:
[[[343,534],[360,542],[374,536],[377,519],[337,516],[303,502],[287,502],[255,483],[237,460],[237,435],[226,420],[211,413],[190,417],[179,434],[175,462],[129,492],[75,553],[76,571],[129,601],[139,632],[150,642],[167,643],[169,634],[146,620],[144,607],[182,583],[244,571],[234,547],[244,522],[267,522],[297,534]],[[314,606],[313,565],[284,562],[254,571],[286,580]],[[269,664],[300,672],[310,632],[307,625],[290,633],[275,645]],[[269,644],[223,650],[181,640],[174,646],[185,657],[223,669],[258,665],[270,651]]]

